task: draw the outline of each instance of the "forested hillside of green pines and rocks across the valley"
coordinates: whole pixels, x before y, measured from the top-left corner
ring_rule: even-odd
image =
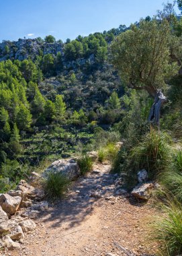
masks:
[[[125,29],[64,44],[53,36],[0,44],[1,191],[120,120],[124,89],[106,59],[108,42]]]

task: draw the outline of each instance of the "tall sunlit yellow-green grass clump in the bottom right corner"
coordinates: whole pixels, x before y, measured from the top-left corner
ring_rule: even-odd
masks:
[[[160,255],[182,254],[182,206],[177,200],[162,205],[163,216],[154,224],[154,240],[161,244]]]

